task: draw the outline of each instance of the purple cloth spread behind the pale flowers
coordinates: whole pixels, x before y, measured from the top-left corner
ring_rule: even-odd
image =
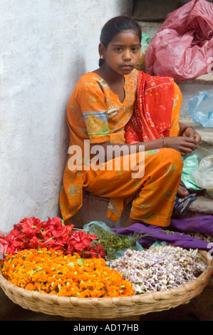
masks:
[[[144,235],[138,238],[142,247],[148,248],[155,242],[166,242],[174,247],[183,247],[185,249],[205,249],[209,250],[212,244],[202,239],[188,236],[184,233],[199,232],[213,236],[213,216],[190,217],[185,219],[171,220],[170,227],[159,227],[147,225],[145,223],[135,223],[129,227],[112,229],[117,234],[133,236],[137,234]],[[170,232],[168,234],[168,230]]]

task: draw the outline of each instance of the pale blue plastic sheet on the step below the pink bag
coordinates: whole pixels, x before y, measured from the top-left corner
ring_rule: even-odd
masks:
[[[213,96],[207,91],[200,91],[198,96],[189,99],[188,113],[194,123],[204,128],[213,127]]]

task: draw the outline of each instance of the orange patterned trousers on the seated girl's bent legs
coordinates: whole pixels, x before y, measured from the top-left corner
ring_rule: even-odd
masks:
[[[138,155],[136,154],[137,165]],[[123,157],[115,158],[114,170],[85,171],[83,187],[94,195],[110,198],[108,217],[115,222],[121,215],[123,205],[132,200],[131,218],[167,227],[170,225],[180,184],[181,155],[169,148],[149,150],[145,152],[144,162],[144,175],[135,178],[135,170],[123,169]],[[120,170],[116,169],[117,163],[121,165]]]

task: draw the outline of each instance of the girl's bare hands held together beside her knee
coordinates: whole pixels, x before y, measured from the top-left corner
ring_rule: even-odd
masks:
[[[197,140],[186,136],[174,136],[166,138],[167,148],[172,148],[180,152],[182,156],[192,153],[197,148]]]

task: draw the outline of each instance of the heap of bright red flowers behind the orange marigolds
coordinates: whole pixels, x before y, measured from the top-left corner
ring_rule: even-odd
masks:
[[[24,249],[41,247],[61,250],[63,254],[77,252],[80,257],[104,257],[101,245],[95,243],[98,238],[94,234],[86,234],[83,230],[73,230],[73,225],[64,225],[60,217],[48,217],[41,221],[35,217],[25,218],[9,234],[0,232],[1,252],[15,254]],[[1,236],[4,234],[4,236]]]

